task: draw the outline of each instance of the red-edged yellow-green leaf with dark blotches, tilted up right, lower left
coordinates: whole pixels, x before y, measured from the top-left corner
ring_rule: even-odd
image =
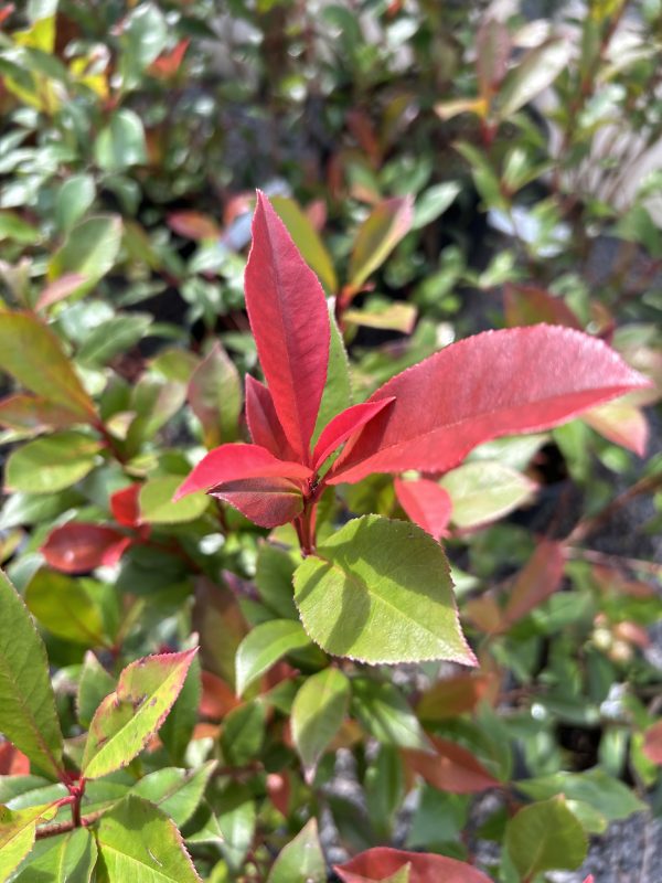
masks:
[[[86,779],[120,769],[142,751],[179,695],[195,652],[145,657],[121,672],[117,690],[89,725],[82,765]]]

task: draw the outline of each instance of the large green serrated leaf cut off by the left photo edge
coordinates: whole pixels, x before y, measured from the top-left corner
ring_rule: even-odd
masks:
[[[60,777],[62,732],[46,651],[25,605],[1,572],[0,731],[35,766]]]

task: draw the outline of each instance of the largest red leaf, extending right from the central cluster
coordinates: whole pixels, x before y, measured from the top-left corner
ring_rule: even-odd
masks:
[[[568,328],[488,331],[389,380],[369,401],[395,395],[348,446],[329,483],[372,472],[457,466],[477,445],[547,429],[649,381],[602,341]]]

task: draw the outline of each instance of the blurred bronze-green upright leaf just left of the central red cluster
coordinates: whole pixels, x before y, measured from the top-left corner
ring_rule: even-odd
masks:
[[[207,448],[221,442],[234,442],[242,413],[242,384],[234,363],[220,343],[191,375],[186,397],[202,424]]]

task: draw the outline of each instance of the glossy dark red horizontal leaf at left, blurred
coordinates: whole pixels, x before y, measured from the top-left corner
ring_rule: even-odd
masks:
[[[51,531],[41,552],[46,563],[63,573],[85,573],[117,564],[131,539],[113,528],[72,521]]]

